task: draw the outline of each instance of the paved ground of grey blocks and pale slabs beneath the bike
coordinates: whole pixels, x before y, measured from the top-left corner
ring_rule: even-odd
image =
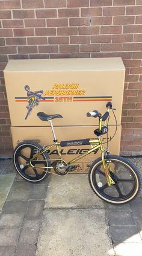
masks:
[[[132,161],[142,170],[140,158]],[[16,176],[0,211],[0,256],[140,255],[141,198],[104,203],[87,174],[52,175],[40,184]]]

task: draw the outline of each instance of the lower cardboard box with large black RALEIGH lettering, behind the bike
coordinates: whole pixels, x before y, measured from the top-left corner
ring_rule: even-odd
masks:
[[[71,139],[85,139],[85,138],[96,138],[93,131],[97,127],[94,126],[82,126],[82,127],[55,127],[55,133],[58,141],[66,141]],[[116,130],[115,126],[109,126],[108,138],[112,137]],[[11,133],[13,138],[13,147],[23,140],[36,141],[40,145],[51,145],[53,144],[53,136],[50,127],[11,127]],[[109,142],[110,152],[114,155],[119,155],[120,152],[120,135],[121,126],[117,127],[117,133],[114,139]],[[102,136],[103,141],[106,142],[106,135]],[[104,144],[106,148],[106,144]],[[64,161],[70,161],[73,158],[81,155],[88,149],[90,145],[85,146],[73,146],[73,147],[60,147],[61,156]],[[100,150],[97,154],[91,153],[80,159],[75,164],[77,165],[74,173],[87,173],[90,163],[100,156]],[[54,147],[49,151],[49,157],[54,161],[57,159],[57,150]]]

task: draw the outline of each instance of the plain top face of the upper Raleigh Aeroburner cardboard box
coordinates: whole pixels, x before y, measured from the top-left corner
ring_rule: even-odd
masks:
[[[122,58],[10,60],[4,72],[125,70]]]

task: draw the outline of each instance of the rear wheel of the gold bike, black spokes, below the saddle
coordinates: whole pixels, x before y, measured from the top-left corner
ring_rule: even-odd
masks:
[[[17,172],[22,176],[23,179],[29,182],[43,181],[48,176],[47,171],[51,169],[51,162],[48,153],[42,153],[32,161],[34,167],[26,165],[42,147],[34,141],[24,141],[17,145],[14,149],[13,162]],[[45,167],[45,168],[38,168]]]

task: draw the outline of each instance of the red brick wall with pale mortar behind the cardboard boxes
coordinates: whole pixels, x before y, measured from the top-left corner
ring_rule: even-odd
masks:
[[[9,59],[122,57],[122,155],[142,155],[142,1],[0,1],[0,147],[11,149],[3,69]]]

